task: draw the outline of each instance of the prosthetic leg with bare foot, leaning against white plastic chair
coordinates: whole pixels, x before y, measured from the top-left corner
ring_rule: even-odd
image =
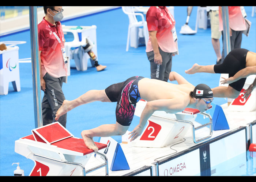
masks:
[[[90,41],[88,37],[84,37],[82,39],[81,46],[83,47],[84,52],[87,52],[89,54],[90,60],[94,62],[94,66],[96,67],[97,71],[102,71],[106,68],[106,66],[102,66],[101,64],[98,64],[97,57],[92,51],[94,44]]]

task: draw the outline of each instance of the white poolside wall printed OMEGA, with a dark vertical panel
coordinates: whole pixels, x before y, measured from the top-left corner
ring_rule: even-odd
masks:
[[[246,127],[158,162],[159,176],[229,175],[223,173],[223,169],[229,171],[234,167],[238,167],[241,174],[246,170]]]

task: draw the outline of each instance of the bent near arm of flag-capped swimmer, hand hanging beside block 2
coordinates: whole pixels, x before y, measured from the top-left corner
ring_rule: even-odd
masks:
[[[150,118],[155,111],[167,111],[172,113],[181,112],[188,105],[188,103],[189,102],[182,102],[181,98],[153,100],[147,102],[140,116],[140,123],[133,129],[132,132],[129,133],[131,135],[128,139],[131,138],[130,141],[133,141],[142,134],[148,118]]]

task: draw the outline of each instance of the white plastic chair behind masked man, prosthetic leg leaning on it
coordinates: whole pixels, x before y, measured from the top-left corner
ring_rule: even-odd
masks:
[[[96,25],[92,26],[65,26],[62,25],[64,38],[65,38],[65,51],[70,59],[75,60],[76,70],[87,70],[87,62],[90,56],[87,52],[83,51],[81,41],[83,37],[88,37],[94,44],[92,51],[98,58],[97,53],[97,38],[96,38]],[[92,66],[94,63],[91,62]],[[70,75],[70,62],[68,63],[68,75]]]

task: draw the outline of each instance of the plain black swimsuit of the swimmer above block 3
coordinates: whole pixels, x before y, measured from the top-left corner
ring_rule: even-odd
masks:
[[[222,64],[214,65],[215,73],[228,73],[229,78],[234,76],[238,71],[245,68],[246,65],[246,55],[248,50],[246,49],[234,49],[229,52]],[[241,91],[244,87],[246,78],[241,78],[236,82],[230,83],[229,86]]]

